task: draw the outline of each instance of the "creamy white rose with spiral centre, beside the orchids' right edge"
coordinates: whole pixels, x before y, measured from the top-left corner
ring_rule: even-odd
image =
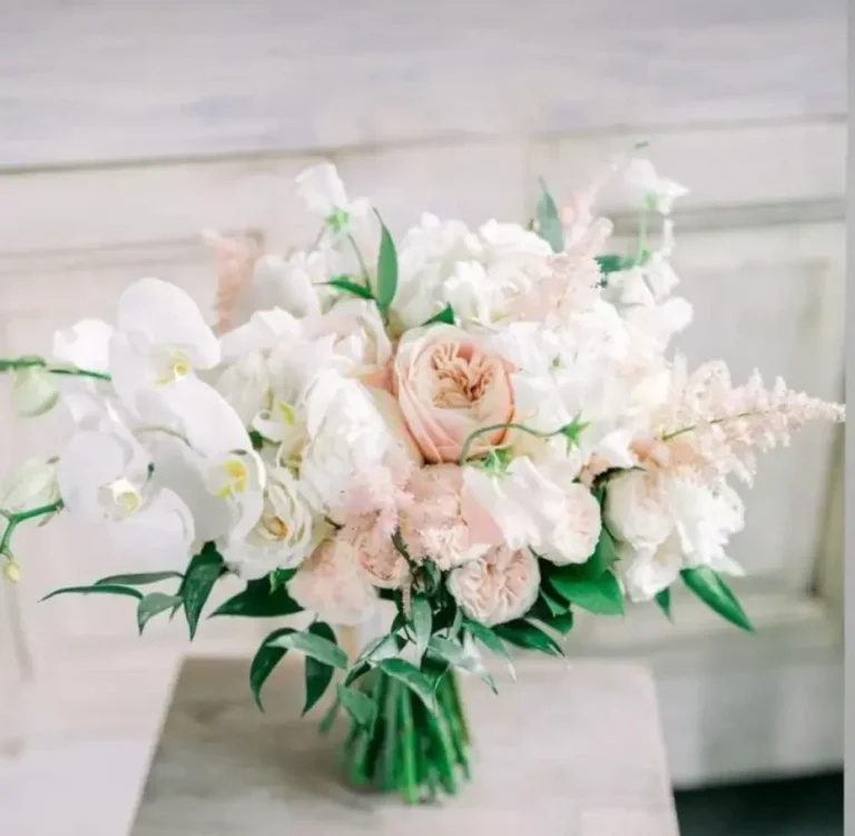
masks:
[[[245,539],[230,538],[220,551],[229,568],[245,580],[263,578],[275,569],[293,569],[317,544],[313,522],[299,483],[284,468],[273,468],[261,519]]]

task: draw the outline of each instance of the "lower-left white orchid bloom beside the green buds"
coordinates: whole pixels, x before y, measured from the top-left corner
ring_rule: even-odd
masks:
[[[149,464],[118,425],[78,432],[59,459],[59,492],[69,513],[102,525],[129,565],[183,568],[193,551],[193,517],[176,493],[153,488]]]

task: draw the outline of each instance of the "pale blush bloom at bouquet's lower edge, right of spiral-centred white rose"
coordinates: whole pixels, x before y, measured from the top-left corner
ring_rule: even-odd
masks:
[[[346,540],[324,540],[288,583],[304,609],[333,624],[358,624],[374,613],[377,594],[360,570],[356,550]]]

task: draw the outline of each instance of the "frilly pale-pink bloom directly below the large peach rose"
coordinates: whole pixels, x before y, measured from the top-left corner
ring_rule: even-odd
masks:
[[[485,531],[483,514],[473,514],[472,503],[463,500],[458,465],[422,468],[406,488],[413,501],[401,514],[401,533],[413,558],[429,558],[446,571],[489,550],[495,532],[492,525]]]

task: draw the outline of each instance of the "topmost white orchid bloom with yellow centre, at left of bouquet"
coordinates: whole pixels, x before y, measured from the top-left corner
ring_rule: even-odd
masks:
[[[219,358],[217,337],[184,291],[158,278],[142,278],[122,293],[109,370],[129,409],[141,414],[140,396],[150,405],[155,393],[168,400],[177,383],[213,368]]]

